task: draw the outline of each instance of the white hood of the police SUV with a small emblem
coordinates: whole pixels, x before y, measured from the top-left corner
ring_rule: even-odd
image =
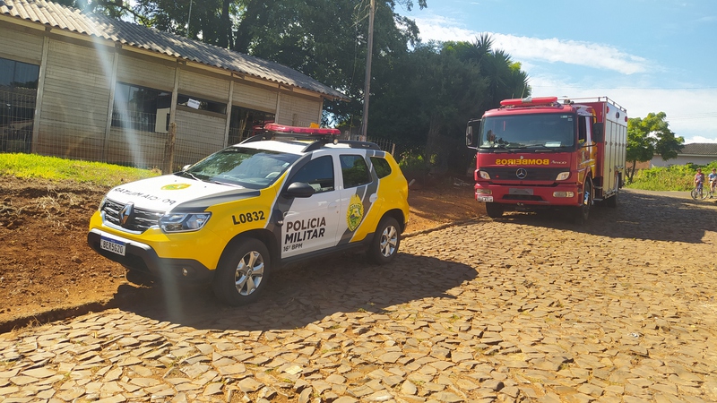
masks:
[[[108,199],[155,211],[202,211],[213,204],[258,196],[255,189],[229,184],[203,182],[183,176],[165,175],[120,184]]]

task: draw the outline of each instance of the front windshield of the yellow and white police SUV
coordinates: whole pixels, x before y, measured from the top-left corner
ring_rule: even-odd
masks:
[[[215,152],[177,175],[263,189],[276,181],[300,156],[279,151],[229,147]]]

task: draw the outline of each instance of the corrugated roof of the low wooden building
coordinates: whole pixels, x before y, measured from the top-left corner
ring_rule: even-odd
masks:
[[[82,13],[77,9],[45,0],[0,0],[0,13],[60,30],[109,39],[123,45],[140,47],[290,87],[318,92],[331,99],[347,99],[341,92],[285,65],[215,47],[197,40],[182,38],[132,22],[117,21],[92,13]]]

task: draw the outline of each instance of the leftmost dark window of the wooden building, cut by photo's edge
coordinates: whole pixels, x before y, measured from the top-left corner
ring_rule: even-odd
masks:
[[[30,152],[39,65],[0,57],[0,151]]]

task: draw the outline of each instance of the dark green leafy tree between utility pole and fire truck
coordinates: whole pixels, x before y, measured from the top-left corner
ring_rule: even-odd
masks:
[[[488,36],[420,44],[376,76],[369,133],[420,150],[422,160],[464,172],[473,153],[465,125],[506,94],[526,91],[527,75]],[[488,72],[488,73],[487,73]],[[527,96],[527,95],[526,95]]]

